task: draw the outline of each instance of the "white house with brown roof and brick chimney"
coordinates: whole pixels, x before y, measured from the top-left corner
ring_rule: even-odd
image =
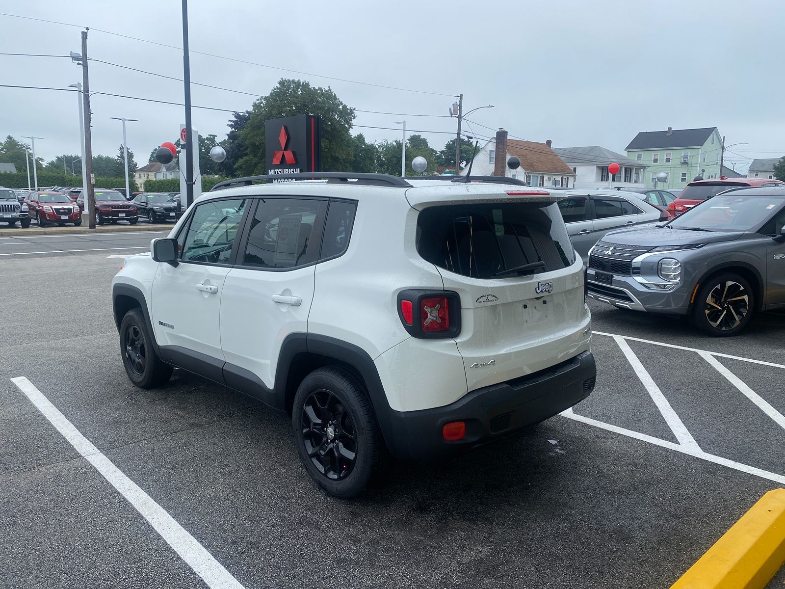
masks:
[[[513,155],[520,159],[517,170],[507,167],[507,159]],[[468,169],[467,164],[462,173],[466,174]],[[572,188],[575,185],[575,172],[553,152],[550,139],[545,143],[509,139],[504,129],[499,129],[496,137],[474,155],[472,175],[519,178],[529,186]]]

